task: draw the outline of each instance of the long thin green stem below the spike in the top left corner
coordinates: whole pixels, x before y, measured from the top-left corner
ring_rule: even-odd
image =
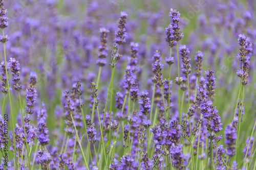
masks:
[[[3,30],[3,37],[5,36],[4,29]],[[11,103],[11,92],[10,92],[10,86],[9,86],[9,80],[8,80],[8,71],[7,71],[7,62],[6,62],[6,52],[5,52],[5,42],[4,44],[4,56],[5,56],[5,73],[6,73],[6,81],[7,81],[7,88],[8,88],[8,95],[9,95],[9,105],[10,105],[10,113],[11,113],[11,119],[12,119],[12,132],[13,132],[13,144],[14,144],[14,157],[15,157],[15,166],[17,167],[17,151],[16,151],[16,137],[14,133],[14,115],[12,113],[12,103]]]

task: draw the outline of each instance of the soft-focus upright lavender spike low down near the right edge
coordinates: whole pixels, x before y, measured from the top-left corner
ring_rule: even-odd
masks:
[[[226,154],[230,157],[236,154],[237,130],[232,125],[227,125],[225,130]]]

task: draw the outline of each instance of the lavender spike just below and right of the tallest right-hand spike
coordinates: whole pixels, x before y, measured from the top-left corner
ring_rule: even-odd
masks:
[[[189,49],[186,47],[186,45],[181,45],[179,48],[179,54],[182,56],[182,72],[187,77],[189,73],[191,72],[191,64],[189,63],[191,59],[188,59],[188,54],[190,53]]]

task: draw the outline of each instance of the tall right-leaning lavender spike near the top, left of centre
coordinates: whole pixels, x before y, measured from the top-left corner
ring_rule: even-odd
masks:
[[[127,17],[126,12],[121,12],[120,18],[119,18],[118,30],[116,30],[115,32],[116,37],[114,39],[115,43],[119,45],[126,42],[125,41],[125,37],[127,36],[127,33],[125,32],[126,17]]]

